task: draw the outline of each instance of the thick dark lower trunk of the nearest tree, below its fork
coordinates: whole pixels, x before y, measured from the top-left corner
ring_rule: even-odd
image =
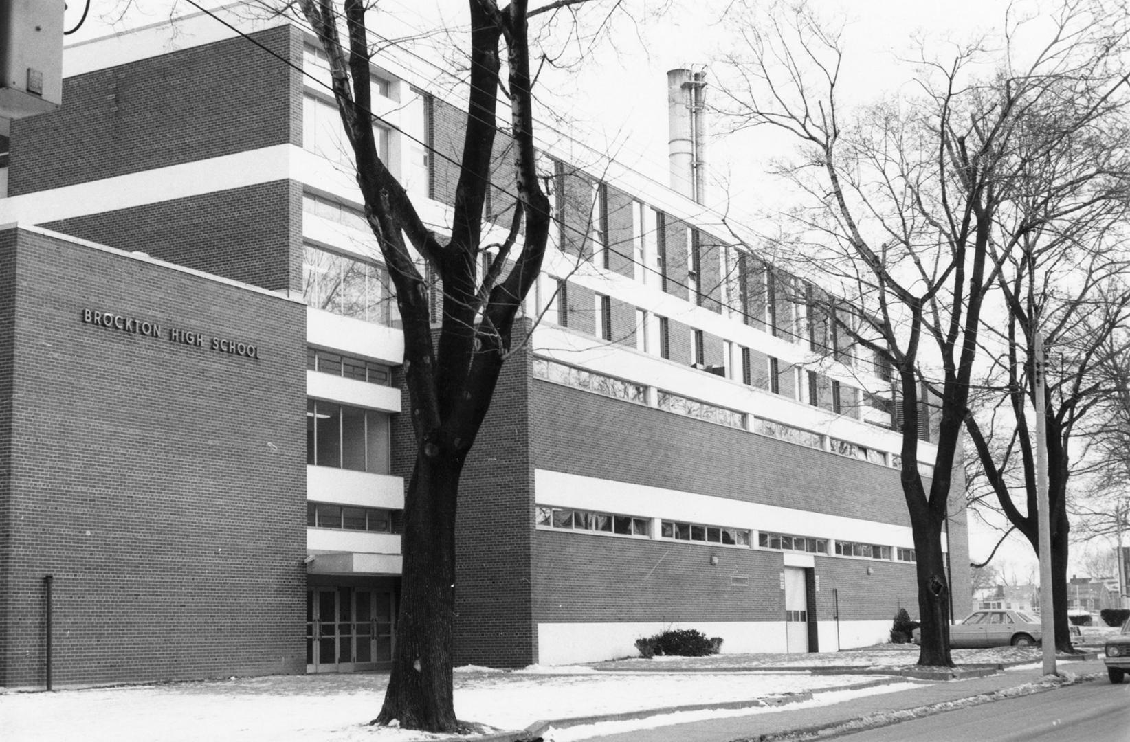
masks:
[[[434,455],[425,449],[432,447]],[[421,446],[405,498],[403,582],[397,652],[374,724],[429,732],[457,728],[452,688],[455,605],[455,497],[463,464]]]

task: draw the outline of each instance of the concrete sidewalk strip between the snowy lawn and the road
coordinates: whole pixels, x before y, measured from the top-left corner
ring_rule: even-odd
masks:
[[[1102,660],[1058,662],[1057,669],[1061,673],[1067,672],[1075,675],[1097,673],[1104,675],[1102,682],[1106,682]],[[992,675],[966,680],[923,682],[918,688],[858,697],[840,704],[815,708],[790,709],[788,706],[782,706],[781,710],[768,714],[704,719],[608,734],[593,739],[607,742],[670,742],[671,740],[679,742],[729,742],[730,740],[772,740],[790,735],[815,734],[872,715],[893,710],[924,709],[938,704],[996,693],[1034,683],[1042,675],[1043,671],[1040,667],[1001,671]],[[877,722],[875,725],[881,726],[884,724]],[[553,723],[549,723],[548,726],[551,727]],[[532,734],[529,739],[545,734],[546,730],[546,724],[531,726],[529,732]]]

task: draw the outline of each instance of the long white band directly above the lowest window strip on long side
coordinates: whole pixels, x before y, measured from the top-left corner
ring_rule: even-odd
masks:
[[[545,469],[534,470],[533,486],[534,499],[538,505],[558,505],[606,513],[624,513],[644,517],[749,529],[750,531],[881,543],[904,549],[914,548],[914,539],[909,525],[876,523],[647,485],[566,474]],[[948,549],[945,535],[942,535],[942,548]]]

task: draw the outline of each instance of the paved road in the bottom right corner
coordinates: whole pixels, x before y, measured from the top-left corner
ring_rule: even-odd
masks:
[[[835,739],[836,742],[1127,740],[1130,739],[1130,683],[1111,686],[1103,679]]]

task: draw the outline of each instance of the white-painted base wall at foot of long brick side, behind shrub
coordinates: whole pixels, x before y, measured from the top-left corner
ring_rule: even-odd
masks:
[[[635,640],[667,629],[698,629],[723,639],[722,654],[785,652],[784,621],[689,621],[686,623],[538,623],[538,664],[567,665],[638,657]],[[819,621],[822,652],[887,641],[890,621]]]

